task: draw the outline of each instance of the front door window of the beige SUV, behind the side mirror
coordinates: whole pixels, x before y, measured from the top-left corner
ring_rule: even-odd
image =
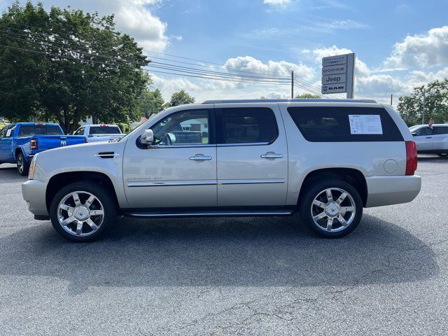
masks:
[[[209,144],[209,111],[173,113],[152,127],[155,145]]]

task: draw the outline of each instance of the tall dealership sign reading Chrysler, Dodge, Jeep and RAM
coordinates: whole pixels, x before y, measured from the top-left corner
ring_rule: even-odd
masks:
[[[323,94],[346,92],[353,98],[355,54],[336,55],[322,59]]]

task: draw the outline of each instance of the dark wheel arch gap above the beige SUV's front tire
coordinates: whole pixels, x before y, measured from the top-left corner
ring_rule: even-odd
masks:
[[[119,208],[117,193],[109,176],[99,172],[80,171],[55,174],[50,178],[45,191],[45,204],[48,212],[50,212],[50,204],[53,197],[61,188],[68,186],[70,183],[80,181],[93,181],[94,183],[102,184],[112,194],[116,207]]]

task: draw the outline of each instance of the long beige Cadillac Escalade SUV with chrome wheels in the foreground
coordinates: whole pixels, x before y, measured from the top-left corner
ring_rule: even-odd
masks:
[[[195,143],[173,137],[172,130],[198,124],[209,132]],[[210,101],[166,109],[116,142],[39,153],[22,193],[34,218],[51,219],[73,241],[98,238],[118,214],[295,211],[319,235],[342,237],[356,228],[363,207],[414,200],[421,188],[416,165],[412,135],[391,106]]]

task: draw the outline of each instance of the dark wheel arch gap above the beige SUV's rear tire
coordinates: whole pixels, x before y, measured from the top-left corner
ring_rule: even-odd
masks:
[[[302,197],[306,192],[307,188],[319,179],[341,179],[350,183],[356,190],[363,200],[363,207],[367,204],[367,182],[365,181],[365,176],[360,170],[354,168],[323,168],[316,169],[305,176],[302,186],[300,188],[299,197],[297,198],[297,204],[300,204]]]

